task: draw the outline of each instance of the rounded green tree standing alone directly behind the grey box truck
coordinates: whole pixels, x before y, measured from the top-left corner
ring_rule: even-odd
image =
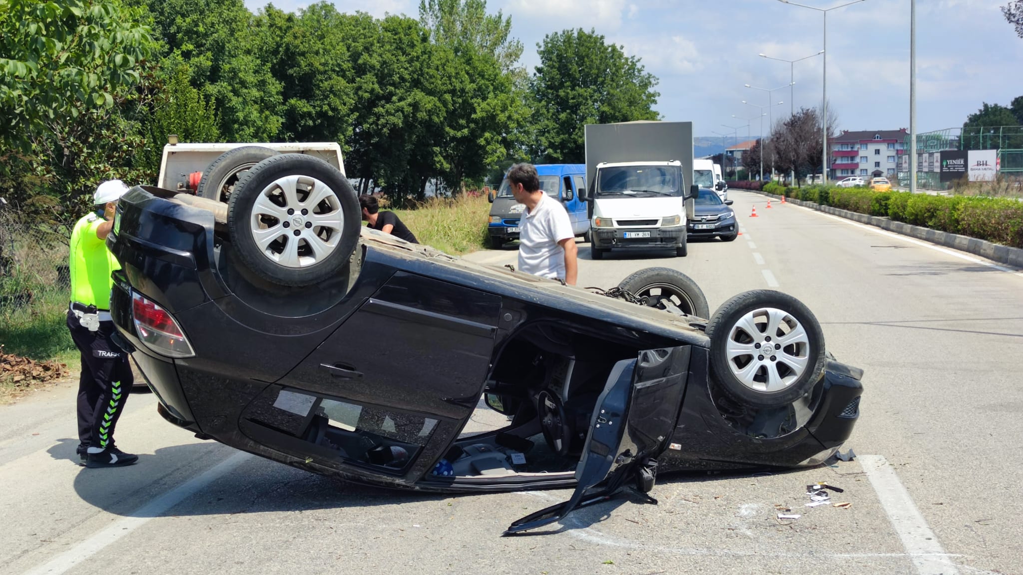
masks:
[[[636,56],[582,29],[548,34],[530,82],[534,154],[549,163],[581,163],[586,124],[658,120],[657,78]]]

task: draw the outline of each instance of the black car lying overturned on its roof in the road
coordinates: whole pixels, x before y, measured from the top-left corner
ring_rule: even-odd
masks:
[[[818,463],[858,417],[862,372],[785,294],[566,286],[362,228],[316,159],[247,169],[227,204],[133,188],[107,239],[122,343],[199,437],[387,487],[575,487],[517,532],[660,474]],[[477,409],[500,425],[465,433]]]

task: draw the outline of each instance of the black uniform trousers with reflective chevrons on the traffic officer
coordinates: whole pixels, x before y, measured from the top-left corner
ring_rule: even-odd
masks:
[[[79,453],[89,447],[114,446],[114,428],[124,411],[134,383],[128,354],[110,341],[113,321],[100,321],[99,329],[83,327],[74,312],[68,312],[68,328],[82,353],[82,375],[78,383]]]

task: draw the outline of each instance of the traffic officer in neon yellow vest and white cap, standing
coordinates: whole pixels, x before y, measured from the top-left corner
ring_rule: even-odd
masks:
[[[121,180],[99,184],[96,211],[75,224],[71,234],[71,306],[68,328],[82,353],[78,387],[78,454],[87,468],[119,468],[138,455],[114,445],[114,428],[133,384],[128,354],[110,341],[110,273],[121,266],[106,249],[118,200],[128,191]]]

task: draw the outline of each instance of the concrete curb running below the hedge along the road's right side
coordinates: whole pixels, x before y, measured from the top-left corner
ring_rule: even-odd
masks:
[[[744,191],[752,191],[776,201],[782,198],[781,195],[774,195],[773,193],[767,193],[765,191],[757,191],[755,189],[748,189]],[[795,204],[796,206],[802,206],[804,208],[810,208],[811,210],[816,210],[818,212],[824,212],[826,214],[831,214],[833,216],[838,216],[840,218],[845,218],[861,224],[880,227],[884,230],[901,235],[908,235],[909,237],[916,237],[917,239],[923,239],[925,241],[944,246],[945,248],[951,248],[952,250],[967,252],[975,256],[980,256],[981,258],[998,262],[999,264],[1023,268],[1023,250],[1019,248],[999,246],[998,244],[991,244],[985,239],[977,239],[976,237],[969,237],[958,233],[948,233],[947,231],[938,231],[928,227],[896,222],[890,218],[882,218],[879,216],[870,216],[866,214],[849,212],[847,210],[839,210],[838,208],[821,206],[813,202],[786,198],[786,203]]]

